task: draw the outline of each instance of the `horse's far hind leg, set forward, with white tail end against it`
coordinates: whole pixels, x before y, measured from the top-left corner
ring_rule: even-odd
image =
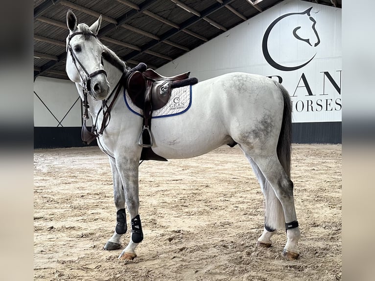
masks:
[[[253,168],[265,199],[264,228],[263,233],[258,238],[257,245],[269,248],[272,245],[271,237],[277,233],[278,229],[284,227],[284,212],[280,200],[276,197],[273,188],[264,177],[258,165],[250,156],[246,155],[246,158]]]

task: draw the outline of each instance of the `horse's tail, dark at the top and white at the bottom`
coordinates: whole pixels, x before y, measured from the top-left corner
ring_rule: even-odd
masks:
[[[281,166],[290,178],[290,155],[291,155],[291,134],[292,134],[292,104],[287,90],[278,82],[276,86],[281,90],[284,109],[282,113],[282,123],[277,145],[277,155]],[[266,202],[265,225],[271,230],[285,229],[285,216],[282,210],[281,202],[277,198],[274,189],[268,181],[265,182],[264,191]]]

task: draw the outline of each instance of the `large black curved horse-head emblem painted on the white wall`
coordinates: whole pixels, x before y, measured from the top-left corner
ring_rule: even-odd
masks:
[[[307,30],[306,28],[302,29],[302,26],[297,26],[293,29],[292,31],[292,34],[294,36],[294,38],[296,38],[297,40],[300,40],[302,42],[305,42],[307,45],[309,45],[310,47],[317,47],[319,44],[320,44],[320,38],[319,38],[319,34],[318,32],[316,31],[316,28],[315,28],[315,25],[316,25],[316,21],[313,17],[311,17],[310,13],[311,13],[311,9],[312,7],[308,8],[307,10],[305,10],[304,12],[301,12],[301,13],[289,13],[289,14],[285,14],[285,15],[282,15],[281,17],[277,18],[275,21],[273,21],[267,28],[266,32],[264,33],[264,36],[263,36],[263,41],[262,41],[262,51],[263,51],[263,55],[264,55],[264,58],[266,59],[266,61],[274,68],[278,69],[278,70],[283,70],[283,71],[292,71],[292,70],[298,70],[300,68],[303,68],[305,65],[307,65],[316,55],[316,53],[310,58],[308,59],[305,63],[301,64],[301,65],[298,65],[298,66],[293,66],[293,67],[286,67],[286,66],[283,66],[279,63],[277,63],[270,55],[270,52],[268,50],[268,38],[270,36],[270,33],[272,31],[272,28],[274,28],[274,26],[279,23],[282,19],[286,18],[286,17],[290,17],[290,16],[294,16],[294,15],[305,15],[306,17],[308,17],[308,21],[306,22],[306,25],[307,25]],[[309,34],[310,38],[303,38],[305,37],[304,35],[301,35],[301,31],[304,31],[302,33],[304,34]],[[314,41],[312,41],[313,39],[315,39]]]

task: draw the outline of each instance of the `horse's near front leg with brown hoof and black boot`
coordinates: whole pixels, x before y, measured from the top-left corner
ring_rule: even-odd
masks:
[[[130,241],[119,255],[118,259],[120,260],[133,260],[136,258],[135,249],[143,240],[141,218],[139,215],[138,167],[139,159],[117,160],[117,171],[124,187],[126,206],[131,219]]]

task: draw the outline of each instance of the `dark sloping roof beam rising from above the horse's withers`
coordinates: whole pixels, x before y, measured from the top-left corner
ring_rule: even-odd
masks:
[[[176,1],[177,0],[173,0],[173,2],[176,2]],[[210,7],[208,7],[207,9],[205,9],[205,10],[203,10],[201,12],[201,17],[193,16],[190,19],[186,20],[185,22],[181,23],[180,24],[181,29],[183,29],[184,32],[187,32],[188,30],[184,30],[185,28],[188,28],[192,24],[200,21],[204,17],[207,17],[207,16],[211,15],[213,12],[216,12],[217,10],[219,10],[220,8],[222,8],[224,5],[228,5],[231,2],[233,2],[233,1],[234,0],[223,0],[222,4],[218,3],[218,2],[216,2],[215,4],[212,4]],[[150,48],[158,45],[160,42],[163,42],[164,40],[169,39],[170,37],[172,37],[173,35],[175,35],[177,32],[180,32],[180,29],[177,29],[177,28],[170,29],[169,31],[165,32],[163,35],[160,36],[160,39],[161,39],[160,41],[158,41],[158,40],[152,40],[149,43],[145,44],[142,47],[142,51],[141,52],[144,52],[145,50],[148,50],[148,49],[150,49]],[[188,31],[188,32],[190,32],[190,31]],[[133,52],[127,54],[124,57],[124,59],[125,59],[125,61],[127,61],[129,59],[134,58],[135,56],[137,56],[139,54],[140,54],[139,51],[133,51]]]

